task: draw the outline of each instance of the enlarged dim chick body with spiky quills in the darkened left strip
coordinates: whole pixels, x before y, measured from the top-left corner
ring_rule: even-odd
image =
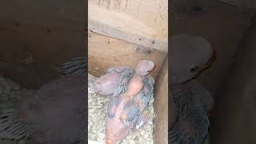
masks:
[[[84,142],[85,84],[82,76],[44,84],[19,110],[4,110],[0,116],[0,138],[30,138],[40,144]]]

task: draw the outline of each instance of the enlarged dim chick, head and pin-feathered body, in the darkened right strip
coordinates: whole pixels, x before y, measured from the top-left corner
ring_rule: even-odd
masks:
[[[216,52],[206,39],[188,34],[174,36],[170,45],[169,143],[206,143],[214,99],[194,78],[214,62]]]

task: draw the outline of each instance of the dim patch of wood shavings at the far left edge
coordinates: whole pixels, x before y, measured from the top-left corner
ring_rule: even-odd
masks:
[[[0,76],[0,110],[14,108],[23,98],[34,94],[34,90],[26,90],[17,82]]]

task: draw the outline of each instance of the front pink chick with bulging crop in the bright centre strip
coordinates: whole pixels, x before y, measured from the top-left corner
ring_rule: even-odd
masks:
[[[113,144],[126,138],[130,130],[143,123],[142,111],[153,94],[154,83],[154,78],[146,77],[148,71],[142,69],[147,64],[147,61],[139,62],[136,74],[129,80],[126,91],[112,95],[108,105],[106,143]],[[149,84],[145,85],[147,83]]]

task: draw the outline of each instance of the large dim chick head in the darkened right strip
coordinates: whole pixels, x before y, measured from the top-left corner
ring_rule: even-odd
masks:
[[[178,34],[170,42],[170,84],[190,81],[211,66],[216,51],[205,38]]]

